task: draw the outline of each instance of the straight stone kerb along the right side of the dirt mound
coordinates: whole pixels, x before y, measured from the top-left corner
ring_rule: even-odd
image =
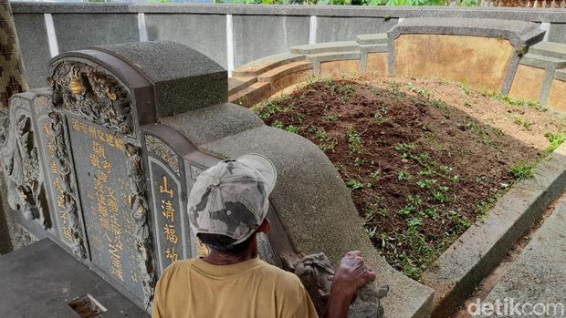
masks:
[[[515,242],[566,188],[566,145],[556,149],[453,243],[423,274],[435,289],[435,316],[447,316],[498,265]]]

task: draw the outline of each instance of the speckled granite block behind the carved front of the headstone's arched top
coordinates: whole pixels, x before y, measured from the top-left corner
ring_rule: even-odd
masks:
[[[97,49],[120,56],[154,85],[159,118],[227,100],[225,69],[194,49],[174,42],[145,42]]]

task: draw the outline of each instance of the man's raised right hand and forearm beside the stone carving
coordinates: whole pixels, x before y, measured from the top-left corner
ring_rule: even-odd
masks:
[[[361,251],[347,252],[336,268],[323,318],[346,317],[356,291],[366,283],[375,281],[375,272],[365,265],[361,254]]]

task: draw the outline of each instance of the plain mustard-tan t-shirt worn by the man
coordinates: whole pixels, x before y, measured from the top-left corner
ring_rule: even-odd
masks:
[[[173,262],[153,297],[152,318],[318,318],[295,274],[259,259]]]

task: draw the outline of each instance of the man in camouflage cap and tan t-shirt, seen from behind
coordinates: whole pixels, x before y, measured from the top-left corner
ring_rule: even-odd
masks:
[[[313,318],[309,294],[290,272],[257,258],[257,233],[268,233],[273,164],[259,155],[226,160],[194,183],[191,228],[209,249],[202,259],[174,262],[157,283],[152,318]],[[358,251],[341,260],[323,317],[345,317],[358,288],[375,280]]]

